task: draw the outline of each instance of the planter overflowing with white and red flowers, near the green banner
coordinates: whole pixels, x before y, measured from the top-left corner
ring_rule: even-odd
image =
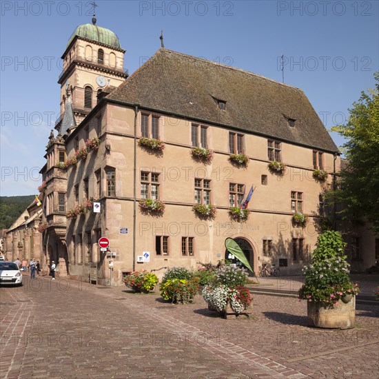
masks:
[[[247,270],[242,267],[219,267],[214,282],[203,289],[208,308],[225,318],[249,317],[252,314],[252,296],[245,287],[246,280]]]

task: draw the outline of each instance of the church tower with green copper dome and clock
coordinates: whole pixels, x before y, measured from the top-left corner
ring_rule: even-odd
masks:
[[[123,70],[125,50],[119,38],[109,29],[92,23],[79,25],[68,40],[62,55],[63,71],[59,75],[61,85],[61,117],[56,129],[61,131],[63,114],[71,96],[75,123],[79,125],[96,106],[99,92],[107,87],[118,87],[127,78]]]

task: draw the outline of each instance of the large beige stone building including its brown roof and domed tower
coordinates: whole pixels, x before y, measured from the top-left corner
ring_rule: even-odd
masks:
[[[128,77],[119,39],[95,24],[76,28],[62,56],[41,170],[43,263],[120,284],[134,269],[236,262],[232,237],[254,272],[300,274],[340,170],[303,91],[163,47]]]

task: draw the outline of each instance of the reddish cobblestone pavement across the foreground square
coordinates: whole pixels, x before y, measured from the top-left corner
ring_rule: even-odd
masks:
[[[379,378],[377,305],[307,327],[307,305],[254,296],[254,318],[65,279],[0,288],[0,378]]]

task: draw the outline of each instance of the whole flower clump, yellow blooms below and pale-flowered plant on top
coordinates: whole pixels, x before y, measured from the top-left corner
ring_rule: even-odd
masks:
[[[174,304],[192,303],[198,291],[198,280],[185,267],[171,267],[159,287],[164,300]]]

